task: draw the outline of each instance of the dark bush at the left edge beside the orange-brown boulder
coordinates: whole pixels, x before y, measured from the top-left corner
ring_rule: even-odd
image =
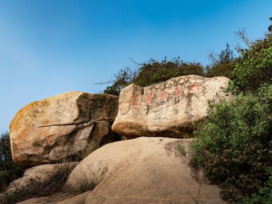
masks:
[[[22,177],[23,173],[24,170],[12,161],[9,133],[0,133],[0,192],[3,192],[10,182]]]

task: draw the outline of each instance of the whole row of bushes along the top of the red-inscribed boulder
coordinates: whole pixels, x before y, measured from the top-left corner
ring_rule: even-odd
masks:
[[[103,91],[105,94],[119,96],[121,89],[130,84],[140,86],[148,86],[161,82],[165,82],[171,78],[185,75],[199,75],[204,77],[225,76],[232,79],[232,73],[235,68],[235,58],[233,50],[226,44],[226,49],[220,54],[210,52],[210,65],[205,68],[200,63],[184,62],[180,57],[167,61],[158,62],[154,59],[142,64],[138,64],[138,68],[133,70],[130,67],[120,69],[114,75],[114,80],[106,83],[113,83],[107,86]],[[104,84],[104,83],[102,83]]]

